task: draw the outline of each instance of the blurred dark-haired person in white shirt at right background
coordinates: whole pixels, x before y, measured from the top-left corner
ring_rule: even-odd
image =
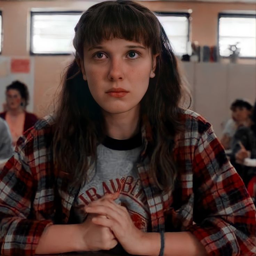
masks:
[[[242,126],[248,126],[252,107],[253,106],[245,99],[236,99],[231,104],[230,110],[232,111],[232,119],[226,122],[221,138],[221,143],[226,150],[231,148],[232,137],[237,129]]]

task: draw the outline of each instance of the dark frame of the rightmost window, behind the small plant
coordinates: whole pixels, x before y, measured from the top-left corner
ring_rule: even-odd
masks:
[[[219,19],[220,18],[256,18],[256,14],[251,13],[218,13],[218,24],[217,24],[217,48],[218,48],[218,57],[219,58],[229,58],[228,56],[221,56],[219,52]],[[255,59],[255,57],[244,57],[244,56],[238,56],[239,59]]]

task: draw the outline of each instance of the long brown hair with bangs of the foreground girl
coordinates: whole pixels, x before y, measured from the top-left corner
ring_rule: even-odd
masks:
[[[96,147],[104,136],[101,109],[82,78],[80,60],[85,45],[121,38],[143,43],[157,57],[155,77],[142,99],[141,114],[146,114],[153,130],[150,145],[150,175],[160,189],[174,188],[177,168],[172,158],[174,136],[181,129],[179,102],[181,79],[169,40],[157,17],[132,1],[106,1],[90,7],[75,27],[75,59],[63,78],[62,93],[55,111],[53,139],[57,170],[66,172],[79,186],[85,181],[88,159],[96,160]],[[90,157],[90,158],[88,158]]]

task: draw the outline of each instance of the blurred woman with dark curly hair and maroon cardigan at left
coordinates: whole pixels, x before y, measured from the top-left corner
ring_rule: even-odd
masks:
[[[28,103],[29,91],[24,83],[14,81],[6,87],[7,111],[0,113],[0,117],[6,120],[10,128],[13,146],[24,131],[38,120],[36,115],[26,111]]]

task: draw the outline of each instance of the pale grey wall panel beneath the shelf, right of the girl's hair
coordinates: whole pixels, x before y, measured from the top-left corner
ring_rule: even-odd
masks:
[[[256,66],[253,64],[181,64],[192,89],[192,109],[205,117],[221,137],[231,117],[230,104],[237,98],[256,99]]]

